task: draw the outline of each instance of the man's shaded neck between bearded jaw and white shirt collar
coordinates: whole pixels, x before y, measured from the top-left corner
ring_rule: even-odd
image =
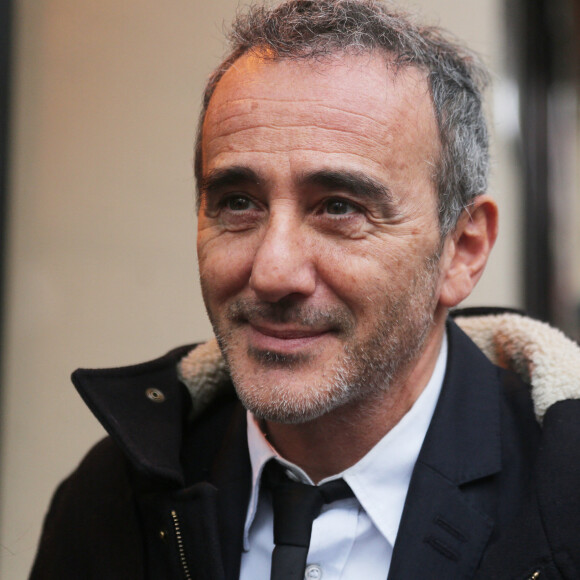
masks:
[[[418,360],[388,389],[300,424],[266,422],[264,433],[276,451],[320,480],[362,459],[409,411],[427,386],[439,356],[444,326],[429,338]]]

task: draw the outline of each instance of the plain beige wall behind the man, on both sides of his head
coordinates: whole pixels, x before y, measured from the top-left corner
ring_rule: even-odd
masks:
[[[415,0],[501,72],[500,0]],[[210,334],[197,286],[191,154],[201,87],[238,0],[17,0],[0,577],[26,577],[57,482],[103,430],[77,366]],[[437,17],[439,15],[439,18]],[[518,304],[509,157],[504,234],[475,302]]]

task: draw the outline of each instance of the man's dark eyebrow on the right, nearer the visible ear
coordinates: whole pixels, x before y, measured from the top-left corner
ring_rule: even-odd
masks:
[[[389,187],[360,171],[322,169],[303,174],[301,186],[317,185],[325,189],[345,190],[359,199],[370,199],[393,205],[395,200]]]

